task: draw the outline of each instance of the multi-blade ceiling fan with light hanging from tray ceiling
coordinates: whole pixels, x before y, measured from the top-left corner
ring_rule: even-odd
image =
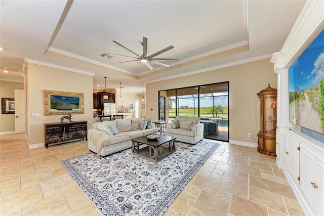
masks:
[[[132,56],[125,56],[125,57],[131,57],[131,58],[135,58],[136,60],[131,60],[131,61],[124,61],[124,62],[133,62],[133,61],[139,61],[135,67],[137,68],[141,63],[145,63],[147,65],[147,67],[149,67],[151,70],[153,70],[154,68],[150,65],[150,63],[153,63],[153,64],[157,64],[157,65],[161,65],[161,66],[164,66],[164,67],[170,67],[170,65],[167,65],[167,64],[163,64],[163,63],[160,63],[160,62],[157,62],[157,61],[161,61],[161,60],[179,60],[178,58],[153,58],[157,55],[160,55],[164,52],[167,52],[168,50],[171,50],[173,49],[174,47],[171,45],[163,50],[160,50],[152,55],[149,55],[147,56],[147,38],[146,37],[143,37],[143,42],[142,42],[142,46],[143,46],[143,54],[140,56],[138,55],[137,53],[131,51],[130,49],[124,47],[123,45],[119,44],[118,42],[116,42],[115,40],[113,40],[113,42],[115,42],[117,45],[119,45],[120,47],[126,49],[127,51],[135,54],[137,57],[132,57]],[[118,54],[113,54],[113,53],[108,53],[108,54],[111,54],[111,55],[117,55],[117,56],[124,56],[124,55],[118,55]],[[124,62],[116,62],[116,63],[124,63]]]

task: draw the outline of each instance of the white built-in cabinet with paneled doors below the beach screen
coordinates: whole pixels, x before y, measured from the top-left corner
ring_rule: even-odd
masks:
[[[324,143],[284,127],[282,170],[306,215],[324,215]]]

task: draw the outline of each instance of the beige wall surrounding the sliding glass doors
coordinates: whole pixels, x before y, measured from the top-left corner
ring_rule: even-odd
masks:
[[[158,119],[158,91],[199,84],[229,81],[229,139],[256,143],[260,130],[259,98],[257,93],[266,89],[268,82],[277,88],[277,76],[270,59],[212,70],[185,77],[146,83],[146,117]],[[154,113],[150,111],[153,108]]]

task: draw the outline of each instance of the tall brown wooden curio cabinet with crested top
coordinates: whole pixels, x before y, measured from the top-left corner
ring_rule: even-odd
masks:
[[[260,91],[260,132],[258,134],[258,152],[269,156],[275,154],[275,132],[277,124],[277,89],[268,88]]]

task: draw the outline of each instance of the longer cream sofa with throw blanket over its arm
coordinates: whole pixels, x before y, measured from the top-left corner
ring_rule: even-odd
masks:
[[[152,122],[151,128],[140,129],[140,123],[144,118],[126,118],[113,121],[93,123],[94,129],[88,131],[88,148],[90,151],[102,157],[132,147],[132,139],[157,133],[157,128]],[[120,135],[109,136],[98,129],[99,124],[114,124]]]

